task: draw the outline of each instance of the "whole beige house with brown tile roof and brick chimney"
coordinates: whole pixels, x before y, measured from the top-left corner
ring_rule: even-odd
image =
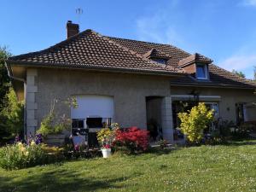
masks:
[[[256,85],[206,56],[170,44],[79,32],[72,21],[66,40],[6,62],[18,98],[26,101],[26,134],[35,133],[54,99],[70,96],[78,108],[56,110],[73,119],[73,134],[118,122],[148,127],[153,137],[161,132],[172,142],[181,103],[195,100],[215,109],[216,118],[256,120]]]

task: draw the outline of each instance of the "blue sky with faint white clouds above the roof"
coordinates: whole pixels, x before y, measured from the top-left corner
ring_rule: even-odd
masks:
[[[199,52],[249,79],[256,66],[256,0],[1,0],[0,17],[0,46],[14,55],[64,40],[73,20],[81,31]]]

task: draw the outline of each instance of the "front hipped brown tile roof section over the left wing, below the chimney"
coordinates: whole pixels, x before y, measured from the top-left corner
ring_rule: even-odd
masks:
[[[9,61],[38,66],[87,67],[131,70],[146,73],[183,73],[166,67],[92,30],[80,32],[49,49],[10,57]]]

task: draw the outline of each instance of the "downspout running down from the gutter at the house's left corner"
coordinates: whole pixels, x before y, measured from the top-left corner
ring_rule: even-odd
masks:
[[[24,108],[23,108],[23,113],[24,113],[24,115],[23,115],[23,122],[24,122],[23,129],[24,129],[24,138],[26,140],[26,79],[21,79],[21,78],[17,78],[15,76],[13,76],[12,72],[11,72],[11,68],[10,68],[10,66],[7,62],[5,62],[5,67],[7,68],[8,76],[9,76],[10,79],[15,79],[17,81],[21,81],[24,84],[24,101],[25,101],[25,104],[24,104]]]

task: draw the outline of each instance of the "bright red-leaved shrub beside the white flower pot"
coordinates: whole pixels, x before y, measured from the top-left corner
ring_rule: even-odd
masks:
[[[126,147],[131,153],[148,148],[148,131],[140,130],[136,126],[119,129],[115,132],[114,147]]]

